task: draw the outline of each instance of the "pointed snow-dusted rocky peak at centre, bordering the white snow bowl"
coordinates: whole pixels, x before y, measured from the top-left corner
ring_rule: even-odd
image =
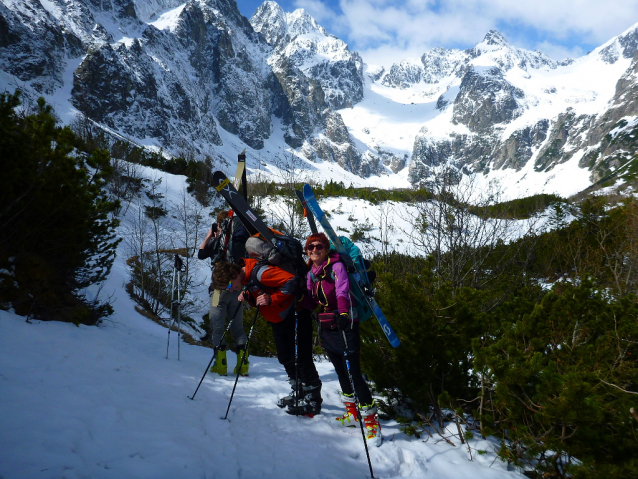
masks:
[[[284,121],[294,126],[286,142],[312,161],[336,162],[364,178],[384,173],[378,159],[362,156],[336,112],[363,99],[361,57],[302,9],[286,13],[265,2],[250,23],[273,47],[268,64],[291,107]]]

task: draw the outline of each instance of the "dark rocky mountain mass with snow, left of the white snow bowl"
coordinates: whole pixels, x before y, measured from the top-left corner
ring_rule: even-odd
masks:
[[[324,160],[359,173],[334,109],[362,98],[361,59],[303,10],[282,20],[275,41],[234,0],[2,0],[2,82],[176,154],[214,153],[220,128],[260,150],[281,124],[288,145],[320,136]]]

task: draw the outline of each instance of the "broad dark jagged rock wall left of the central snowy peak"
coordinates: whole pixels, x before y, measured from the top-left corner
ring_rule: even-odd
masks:
[[[232,1],[191,0],[174,29],[145,25],[141,38],[89,51],[75,73],[74,104],[127,135],[174,147],[221,144],[216,118],[262,148],[270,135],[271,80],[263,68],[270,49],[262,44],[254,57],[260,44],[241,19]]]

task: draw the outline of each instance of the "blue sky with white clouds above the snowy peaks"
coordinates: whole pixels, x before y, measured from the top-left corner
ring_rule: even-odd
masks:
[[[250,18],[262,1],[237,0]],[[281,0],[304,8],[370,64],[470,48],[495,29],[517,47],[577,58],[638,23],[638,0]]]

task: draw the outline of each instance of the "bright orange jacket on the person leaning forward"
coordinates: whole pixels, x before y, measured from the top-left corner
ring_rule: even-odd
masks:
[[[260,284],[251,284],[253,268],[257,265],[257,260],[246,258],[246,276],[243,284],[248,286],[249,295],[246,299],[253,306],[260,294],[266,293],[270,296],[270,304],[260,306],[259,311],[271,323],[279,323],[286,319],[292,307],[296,303],[296,293],[299,289],[297,278],[281,268],[271,265],[260,265],[257,270],[257,281]],[[262,289],[263,286],[263,289]]]

